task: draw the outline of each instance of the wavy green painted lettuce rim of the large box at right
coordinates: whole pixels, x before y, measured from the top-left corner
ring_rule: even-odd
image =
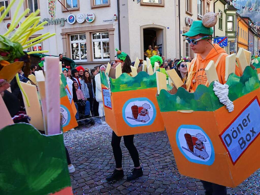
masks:
[[[234,101],[259,88],[257,72],[247,66],[242,77],[234,73],[230,74],[227,84],[229,85],[229,99]],[[177,110],[214,111],[224,106],[219,102],[213,91],[213,82],[209,87],[199,85],[195,93],[189,93],[184,88],[179,88],[176,94],[171,95],[166,90],[161,90],[160,95],[157,96],[157,101],[161,112]]]

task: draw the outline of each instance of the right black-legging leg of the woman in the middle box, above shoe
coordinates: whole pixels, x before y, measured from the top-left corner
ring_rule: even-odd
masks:
[[[140,162],[139,162],[139,154],[138,151],[134,145],[134,135],[125,135],[123,136],[125,146],[129,151],[129,154],[134,162],[134,167],[139,167]]]

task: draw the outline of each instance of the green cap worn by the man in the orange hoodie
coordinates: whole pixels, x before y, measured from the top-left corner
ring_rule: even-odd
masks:
[[[204,27],[201,20],[194,21],[190,30],[187,33],[184,33],[182,36],[193,37],[200,33],[205,35],[213,35],[213,29],[212,27]]]

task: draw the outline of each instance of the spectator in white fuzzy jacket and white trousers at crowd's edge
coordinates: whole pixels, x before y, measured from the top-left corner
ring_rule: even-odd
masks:
[[[105,65],[100,65],[99,66],[99,70],[101,72],[105,72],[106,71],[106,66]],[[104,106],[103,106],[103,97],[102,97],[102,89],[101,89],[101,80],[100,80],[100,74],[97,74],[95,76],[95,81],[96,81],[96,101],[99,103],[98,106],[98,113],[100,116],[100,123],[102,125],[105,125],[105,112],[104,112]]]

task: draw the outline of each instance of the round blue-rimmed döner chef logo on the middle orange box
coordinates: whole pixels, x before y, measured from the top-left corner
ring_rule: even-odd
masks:
[[[130,127],[152,125],[156,109],[146,97],[132,98],[126,101],[122,109],[123,119]]]

